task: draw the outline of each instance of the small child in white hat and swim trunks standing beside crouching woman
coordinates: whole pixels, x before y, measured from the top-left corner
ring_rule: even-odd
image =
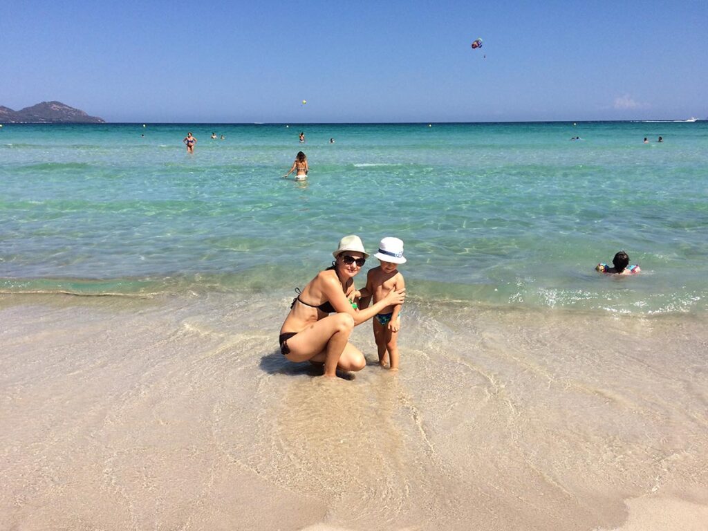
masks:
[[[384,238],[379,243],[379,252],[374,256],[380,265],[369,270],[366,287],[361,291],[362,299],[373,297],[374,302],[386,297],[391,290],[402,290],[406,287],[403,275],[397,266],[406,263],[403,256],[403,241],[398,238]],[[366,304],[366,303],[365,303]],[[374,338],[379,351],[379,365],[389,365],[391,370],[398,370],[399,351],[396,341],[401,329],[401,304],[384,308],[374,319]]]

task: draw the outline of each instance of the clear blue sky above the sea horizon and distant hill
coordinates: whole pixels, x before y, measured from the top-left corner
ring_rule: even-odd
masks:
[[[4,0],[0,105],[50,100],[110,122],[707,118],[708,1]]]

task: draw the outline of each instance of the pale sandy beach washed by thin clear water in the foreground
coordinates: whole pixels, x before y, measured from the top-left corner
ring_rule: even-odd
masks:
[[[0,529],[707,529],[701,318],[418,300],[328,381],[284,307],[2,295]]]

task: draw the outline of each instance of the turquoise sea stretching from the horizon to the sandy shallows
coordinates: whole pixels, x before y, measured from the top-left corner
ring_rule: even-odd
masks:
[[[708,122],[5,125],[0,154],[4,292],[290,292],[359,234],[405,241],[411,297],[708,308]],[[595,273],[619,249],[639,277]]]

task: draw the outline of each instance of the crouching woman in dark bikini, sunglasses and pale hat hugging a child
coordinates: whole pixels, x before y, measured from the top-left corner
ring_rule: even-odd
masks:
[[[332,254],[332,266],[320,271],[298,293],[280,329],[280,351],[285,358],[324,363],[324,375],[328,377],[336,376],[337,369],[356,371],[365,367],[364,355],[349,343],[352,330],[406,298],[405,290],[391,290],[376,304],[357,309],[359,292],[353,279],[369,255],[359,236],[344,236]]]

